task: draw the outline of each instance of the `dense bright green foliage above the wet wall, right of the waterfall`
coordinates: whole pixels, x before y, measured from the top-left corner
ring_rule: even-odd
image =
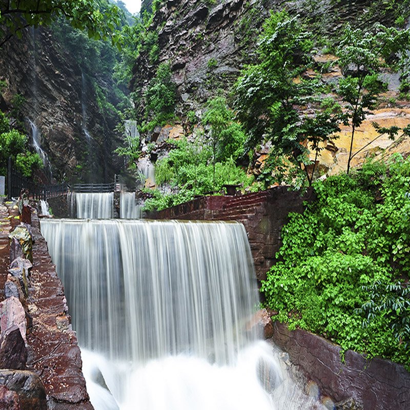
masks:
[[[400,156],[388,170],[368,161],[315,182],[317,200],[290,215],[262,282],[276,319],[410,368],[409,291],[395,279],[410,272],[409,184],[410,160]]]

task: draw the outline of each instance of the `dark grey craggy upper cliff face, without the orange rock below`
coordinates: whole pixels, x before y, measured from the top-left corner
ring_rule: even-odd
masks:
[[[136,60],[131,88],[144,95],[160,63],[169,63],[177,85],[176,114],[185,117],[218,90],[229,92],[246,64],[256,63],[255,47],[271,10],[286,9],[308,21],[315,37],[340,34],[343,25],[392,24],[391,11],[377,14],[372,0],[167,0],[155,13],[149,31],[158,33],[159,58],[149,51]],[[379,2],[380,3],[380,2]],[[380,6],[382,7],[382,6]],[[316,38],[316,39],[317,39]],[[144,112],[141,101],[139,112]]]

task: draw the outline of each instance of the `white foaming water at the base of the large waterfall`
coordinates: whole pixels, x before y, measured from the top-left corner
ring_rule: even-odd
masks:
[[[292,380],[282,355],[258,341],[239,352],[235,365],[178,355],[138,366],[81,349],[95,410],[328,410]],[[118,380],[122,388],[114,398],[109,389]]]

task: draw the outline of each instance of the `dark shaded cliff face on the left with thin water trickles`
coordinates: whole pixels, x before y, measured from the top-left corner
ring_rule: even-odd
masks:
[[[11,109],[16,94],[25,98],[20,112],[27,134],[33,137],[34,125],[53,176],[111,181],[118,172],[112,158],[117,118],[101,114],[91,78],[82,75],[74,58],[42,28],[28,29],[22,39],[11,38],[1,51],[0,80],[6,82],[2,110]]]

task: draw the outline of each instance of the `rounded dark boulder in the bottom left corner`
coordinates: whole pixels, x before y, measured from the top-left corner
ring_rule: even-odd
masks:
[[[44,385],[35,373],[0,370],[0,384],[17,393],[21,410],[47,410]]]

